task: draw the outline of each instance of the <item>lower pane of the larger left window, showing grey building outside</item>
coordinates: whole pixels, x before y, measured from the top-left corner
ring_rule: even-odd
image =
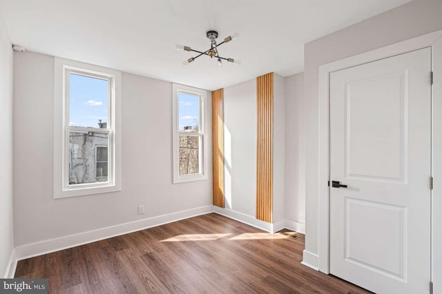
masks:
[[[100,149],[99,152],[98,149]],[[106,182],[108,180],[107,149],[107,133],[69,132],[69,185]],[[97,160],[98,156],[99,159],[105,160]]]

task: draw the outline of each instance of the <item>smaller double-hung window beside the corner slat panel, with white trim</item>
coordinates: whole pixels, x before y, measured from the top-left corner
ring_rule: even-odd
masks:
[[[173,84],[173,182],[207,179],[206,91]]]

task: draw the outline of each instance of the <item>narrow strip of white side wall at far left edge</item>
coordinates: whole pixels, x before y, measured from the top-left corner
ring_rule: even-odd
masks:
[[[12,249],[12,45],[0,15],[0,277],[7,277]]]

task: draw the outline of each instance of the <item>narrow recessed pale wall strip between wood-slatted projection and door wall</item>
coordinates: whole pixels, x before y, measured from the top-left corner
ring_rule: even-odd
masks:
[[[285,78],[285,219],[305,230],[304,73]]]

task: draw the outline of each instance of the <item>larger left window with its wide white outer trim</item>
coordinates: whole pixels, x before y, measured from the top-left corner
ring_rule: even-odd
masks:
[[[55,60],[54,197],[121,190],[121,73]]]

